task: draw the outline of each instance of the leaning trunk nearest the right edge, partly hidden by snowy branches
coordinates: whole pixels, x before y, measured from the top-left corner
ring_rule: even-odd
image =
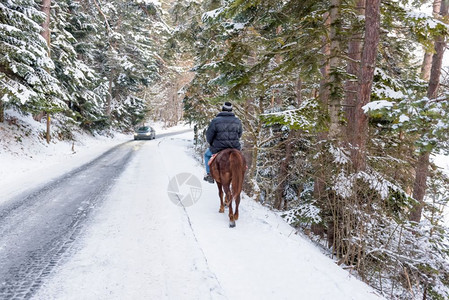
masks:
[[[440,15],[446,17],[448,15],[448,1],[441,3]],[[435,99],[438,96],[438,87],[440,85],[441,66],[443,63],[444,50],[446,48],[445,38],[439,36],[435,40],[435,54],[432,57],[432,68],[430,71],[429,87],[427,89],[427,98]],[[430,150],[422,151],[418,157],[415,169],[415,182],[413,185],[413,198],[417,203],[410,211],[410,221],[421,221],[422,209],[424,207],[424,196],[426,194],[426,181],[429,172]]]

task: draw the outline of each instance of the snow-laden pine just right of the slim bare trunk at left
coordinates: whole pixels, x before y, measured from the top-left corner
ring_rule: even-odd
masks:
[[[79,3],[73,1],[55,3],[51,20],[51,57],[55,77],[63,89],[63,101],[68,106],[67,113],[83,128],[95,128],[95,124],[105,119],[102,95],[96,92],[101,80],[89,67],[91,60],[86,59],[91,51],[87,42],[93,42],[86,36],[94,32],[96,25]]]

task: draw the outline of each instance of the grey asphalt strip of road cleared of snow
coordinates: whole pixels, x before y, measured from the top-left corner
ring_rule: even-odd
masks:
[[[145,141],[118,145],[0,205],[0,299],[28,299],[39,289],[141,143]]]

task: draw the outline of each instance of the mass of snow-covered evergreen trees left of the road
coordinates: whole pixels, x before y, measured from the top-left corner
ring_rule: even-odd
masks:
[[[161,45],[170,35],[161,8],[137,0],[52,1],[50,47],[39,9],[35,1],[0,4],[0,104],[64,111],[89,130],[141,122],[141,94],[160,79]]]

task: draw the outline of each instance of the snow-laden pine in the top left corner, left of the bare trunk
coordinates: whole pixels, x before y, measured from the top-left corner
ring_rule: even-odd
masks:
[[[40,35],[45,16],[34,1],[0,4],[0,99],[3,105],[37,113],[63,107],[59,82],[46,41]]]

